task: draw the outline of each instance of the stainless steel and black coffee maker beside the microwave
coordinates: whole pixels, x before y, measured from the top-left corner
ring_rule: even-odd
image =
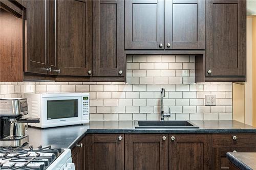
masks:
[[[27,99],[0,99],[0,145],[18,147],[29,141],[25,134],[28,123],[39,123],[39,118],[23,118],[28,114]]]

